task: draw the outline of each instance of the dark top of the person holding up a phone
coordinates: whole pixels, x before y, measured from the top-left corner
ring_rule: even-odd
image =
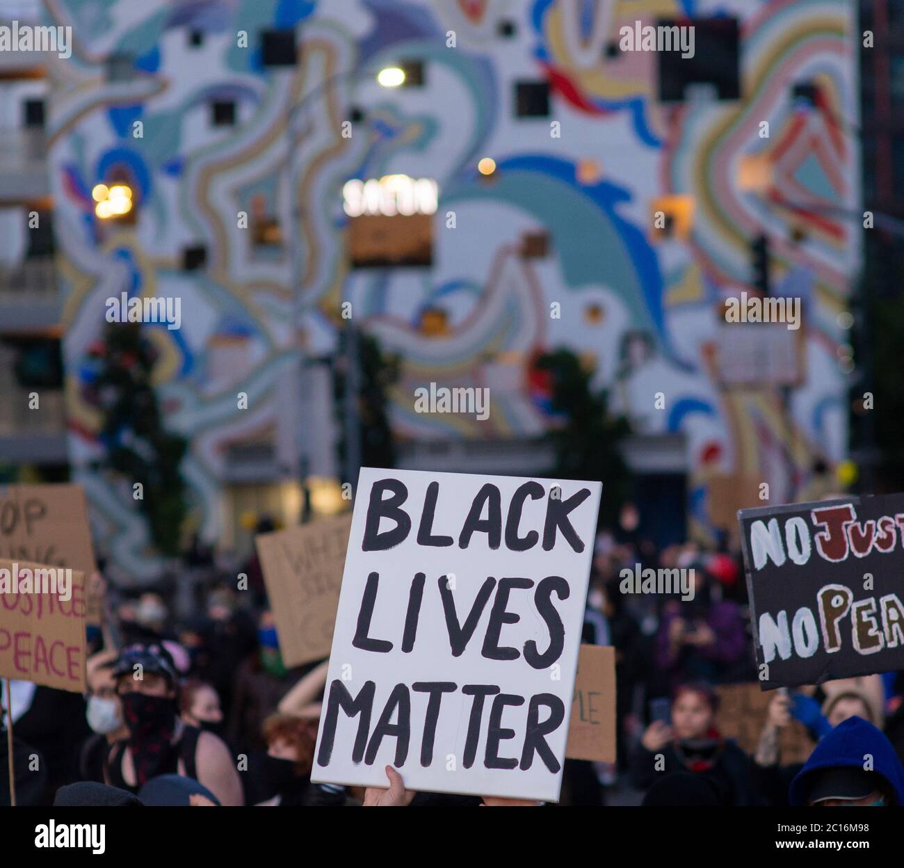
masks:
[[[661,769],[656,768],[656,757],[662,755]],[[648,789],[662,776],[673,771],[695,771],[689,769],[683,753],[673,743],[667,744],[655,753],[638,744],[631,754],[631,779],[638,789]],[[722,741],[714,758],[708,763],[705,773],[720,788],[722,804],[734,807],[762,805],[749,756],[734,741]]]

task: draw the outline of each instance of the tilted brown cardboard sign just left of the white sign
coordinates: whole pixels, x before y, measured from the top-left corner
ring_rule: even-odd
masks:
[[[255,537],[283,663],[330,653],[351,515]]]

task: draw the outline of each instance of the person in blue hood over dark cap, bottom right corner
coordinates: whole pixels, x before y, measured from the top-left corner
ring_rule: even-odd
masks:
[[[863,769],[866,756],[871,757],[871,771]],[[788,801],[810,807],[900,806],[904,767],[880,730],[849,717],[816,745],[791,782]]]

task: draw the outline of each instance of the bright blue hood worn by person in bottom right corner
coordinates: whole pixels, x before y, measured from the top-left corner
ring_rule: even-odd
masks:
[[[805,805],[815,771],[844,766],[862,769],[866,754],[872,757],[872,771],[889,782],[897,803],[904,805],[904,767],[898,754],[885,734],[862,717],[849,717],[839,723],[816,745],[804,768],[791,781],[788,800],[792,805]]]

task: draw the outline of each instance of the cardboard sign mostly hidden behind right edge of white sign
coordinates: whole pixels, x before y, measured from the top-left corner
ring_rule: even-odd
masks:
[[[616,761],[616,649],[582,645],[565,756]]]

